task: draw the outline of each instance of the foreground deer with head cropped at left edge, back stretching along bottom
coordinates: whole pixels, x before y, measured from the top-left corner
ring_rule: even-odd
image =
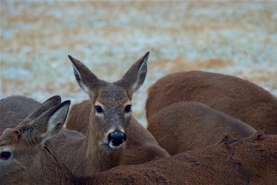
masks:
[[[226,135],[215,145],[145,164],[117,166],[75,175],[50,139],[63,124],[70,101],[44,102],[0,137],[1,184],[274,184],[277,181],[277,135],[257,132],[249,138]]]

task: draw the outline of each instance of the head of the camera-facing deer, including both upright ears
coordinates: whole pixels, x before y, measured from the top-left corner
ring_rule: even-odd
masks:
[[[131,119],[132,94],[143,84],[149,52],[135,62],[122,79],[109,83],[100,80],[83,63],[69,56],[79,86],[86,92],[93,107],[88,132],[106,151],[124,148]],[[88,135],[88,134],[87,134]]]

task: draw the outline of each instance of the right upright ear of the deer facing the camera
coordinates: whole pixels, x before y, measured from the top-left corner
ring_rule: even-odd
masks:
[[[136,61],[130,69],[125,73],[119,83],[123,83],[126,88],[131,88],[132,93],[139,90],[142,86],[147,73],[147,60],[149,51],[145,53],[138,61]]]

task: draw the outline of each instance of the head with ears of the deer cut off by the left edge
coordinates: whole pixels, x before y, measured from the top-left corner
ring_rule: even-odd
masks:
[[[33,180],[43,178],[47,181],[43,174],[53,163],[49,161],[53,154],[46,140],[63,126],[69,104],[65,101],[43,112],[44,104],[16,128],[5,129],[0,137],[1,184],[38,184]]]

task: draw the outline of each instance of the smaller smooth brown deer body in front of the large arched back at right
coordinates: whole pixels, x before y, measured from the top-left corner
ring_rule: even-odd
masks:
[[[147,129],[170,155],[218,143],[226,133],[246,138],[257,131],[199,102],[177,102],[159,110]]]

